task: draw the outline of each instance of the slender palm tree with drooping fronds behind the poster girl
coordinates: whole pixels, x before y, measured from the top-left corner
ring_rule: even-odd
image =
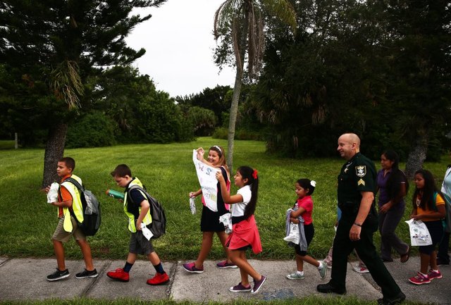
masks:
[[[235,123],[238,99],[244,74],[245,57],[249,77],[256,77],[261,68],[264,52],[264,13],[273,15],[296,30],[296,13],[288,0],[226,0],[214,15],[214,36],[229,44],[226,53],[235,56],[235,85],[228,125],[228,158],[232,170]]]

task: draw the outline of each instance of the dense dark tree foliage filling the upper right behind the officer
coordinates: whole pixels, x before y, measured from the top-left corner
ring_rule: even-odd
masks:
[[[294,37],[271,27],[252,97],[273,130],[269,149],[330,156],[352,131],[373,158],[387,147],[405,157],[423,126],[435,130],[427,142],[440,143],[450,111],[446,1],[295,1],[295,9]]]

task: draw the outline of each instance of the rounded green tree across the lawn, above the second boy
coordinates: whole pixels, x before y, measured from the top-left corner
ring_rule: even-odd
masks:
[[[141,75],[130,66],[104,70],[92,99],[97,110],[116,122],[118,142],[168,143],[194,136],[175,101],[156,90],[149,75]]]

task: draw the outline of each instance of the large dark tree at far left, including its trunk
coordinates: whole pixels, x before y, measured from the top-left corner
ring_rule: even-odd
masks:
[[[0,61],[13,83],[10,106],[23,116],[31,114],[38,124],[30,126],[49,130],[43,186],[56,178],[67,124],[77,115],[70,106],[91,102],[82,95],[92,89],[89,77],[101,67],[126,65],[144,54],[144,49],[128,47],[125,37],[151,16],[132,15],[132,8],[164,1],[0,2]]]

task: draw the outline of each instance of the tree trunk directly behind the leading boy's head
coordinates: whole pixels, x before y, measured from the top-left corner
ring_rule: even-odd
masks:
[[[56,123],[49,129],[49,137],[45,145],[44,154],[43,188],[58,180],[56,166],[58,165],[58,160],[61,159],[64,154],[64,144],[66,143],[67,132],[68,125],[66,123]]]

